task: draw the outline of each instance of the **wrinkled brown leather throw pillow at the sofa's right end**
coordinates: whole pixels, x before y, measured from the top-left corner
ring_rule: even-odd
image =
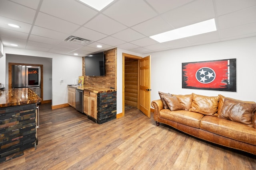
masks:
[[[252,116],[255,108],[256,104],[225,98],[219,117],[252,126]]]

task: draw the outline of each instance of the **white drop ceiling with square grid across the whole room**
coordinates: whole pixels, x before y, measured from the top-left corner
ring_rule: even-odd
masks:
[[[212,18],[217,31],[164,43],[150,38]],[[65,41],[71,35],[90,43]],[[4,47],[82,57],[116,47],[145,54],[252,36],[256,0],[114,0],[101,11],[78,0],[0,1]]]

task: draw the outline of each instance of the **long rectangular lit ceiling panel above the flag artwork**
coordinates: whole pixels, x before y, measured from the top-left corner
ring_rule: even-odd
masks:
[[[217,29],[215,25],[215,20],[211,19],[211,20],[195,23],[192,25],[188,25],[186,27],[181,27],[178,29],[173,29],[171,31],[153,35],[153,36],[150,36],[150,38],[158,41],[159,43],[163,43],[163,42],[171,41],[174,39],[190,37],[193,35],[208,33],[216,30]]]

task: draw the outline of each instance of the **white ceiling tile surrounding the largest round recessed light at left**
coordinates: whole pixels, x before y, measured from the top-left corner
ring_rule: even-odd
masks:
[[[19,25],[20,28],[10,27],[9,25],[7,25],[8,23]],[[10,18],[0,16],[0,27],[2,27],[2,28],[14,30],[14,31],[20,31],[20,32],[24,32],[24,33],[29,33],[31,26],[32,25],[28,24],[28,23],[24,23],[24,22],[12,20]]]

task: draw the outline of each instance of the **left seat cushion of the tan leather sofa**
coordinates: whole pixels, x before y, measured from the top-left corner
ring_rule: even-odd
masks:
[[[159,116],[164,119],[181,123],[183,125],[200,128],[200,120],[204,115],[188,110],[170,111],[169,109],[162,109],[159,112]]]

